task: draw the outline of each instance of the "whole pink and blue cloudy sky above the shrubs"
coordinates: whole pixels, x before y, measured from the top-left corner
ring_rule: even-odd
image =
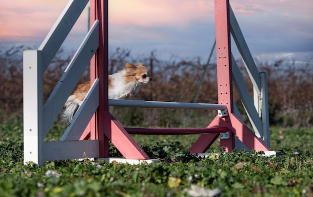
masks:
[[[109,51],[160,59],[206,61],[215,40],[214,0],[109,0]],[[229,0],[255,59],[313,65],[312,0]],[[0,48],[37,48],[67,0],[0,0]],[[63,47],[76,50],[87,32],[87,9]],[[234,43],[232,51],[238,56]]]

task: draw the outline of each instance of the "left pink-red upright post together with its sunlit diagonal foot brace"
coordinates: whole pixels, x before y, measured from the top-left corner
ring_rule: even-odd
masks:
[[[125,129],[114,119],[108,109],[108,1],[90,1],[90,21],[99,20],[99,48],[90,63],[90,80],[99,78],[99,107],[88,127],[99,140],[99,157],[108,157],[108,140],[127,159],[149,159]],[[92,132],[94,131],[94,134]],[[85,135],[86,136],[86,135]]]

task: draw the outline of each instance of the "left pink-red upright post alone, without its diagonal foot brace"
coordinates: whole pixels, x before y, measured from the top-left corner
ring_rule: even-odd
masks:
[[[89,127],[90,136],[99,140],[99,157],[108,157],[108,138],[103,131],[108,125],[104,125],[104,111],[108,111],[107,100],[107,65],[108,65],[108,12],[107,0],[90,0],[90,23],[99,20],[99,48],[90,62],[91,83],[99,79],[99,107],[92,117]]]

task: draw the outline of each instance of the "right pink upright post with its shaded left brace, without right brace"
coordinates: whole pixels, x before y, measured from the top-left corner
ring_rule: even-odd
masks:
[[[228,114],[233,112],[232,80],[231,80],[231,52],[230,52],[230,24],[229,24],[229,0],[215,0],[215,31],[216,31],[216,66],[217,66],[217,90],[218,104],[227,106]],[[208,127],[223,126],[228,131],[232,130],[229,116],[219,117]],[[220,139],[220,146],[226,151],[234,149],[234,136],[229,132],[229,139]],[[217,139],[217,134],[203,134],[189,149],[190,153],[203,153]]]

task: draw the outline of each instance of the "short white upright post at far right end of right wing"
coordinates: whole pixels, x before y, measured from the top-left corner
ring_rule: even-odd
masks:
[[[269,117],[268,117],[268,95],[267,95],[267,75],[264,72],[260,73],[261,77],[261,116],[262,116],[262,131],[263,142],[269,147]]]

